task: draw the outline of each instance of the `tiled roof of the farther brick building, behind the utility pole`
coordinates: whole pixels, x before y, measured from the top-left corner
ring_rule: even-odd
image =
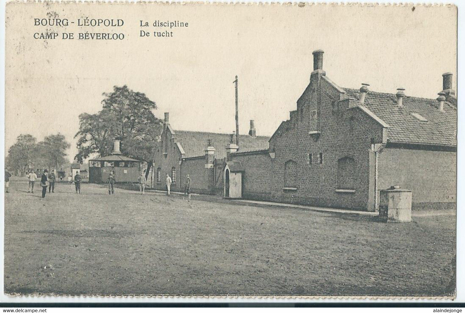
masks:
[[[203,131],[174,130],[175,141],[182,145],[186,157],[204,156],[207,141],[211,140],[211,145],[215,147],[217,158],[226,157],[226,146],[230,143],[231,134],[219,134]],[[268,149],[270,137],[249,135],[239,135],[239,152],[265,150]],[[235,140],[235,137],[234,137]]]

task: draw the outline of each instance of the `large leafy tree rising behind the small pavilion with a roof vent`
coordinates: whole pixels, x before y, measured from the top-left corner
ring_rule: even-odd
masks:
[[[76,157],[85,159],[93,153],[106,156],[112,151],[113,139],[119,138],[123,154],[148,163],[147,177],[162,131],[161,120],[153,114],[157,105],[126,85],[114,86],[113,92],[103,96],[102,111],[79,116],[80,129],[74,136],[78,138]]]

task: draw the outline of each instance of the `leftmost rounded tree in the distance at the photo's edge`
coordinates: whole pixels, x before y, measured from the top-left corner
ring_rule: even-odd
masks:
[[[18,175],[25,175],[29,166],[33,163],[34,153],[37,149],[37,139],[29,134],[21,134],[8,149],[7,167]]]

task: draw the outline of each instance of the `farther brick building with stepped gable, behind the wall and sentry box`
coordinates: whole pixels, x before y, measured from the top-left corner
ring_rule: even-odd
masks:
[[[270,137],[256,136],[253,121],[248,135],[239,136],[240,151],[268,149]],[[163,132],[156,147],[153,170],[154,188],[166,190],[166,174],[174,191],[184,191],[186,175],[194,193],[222,193],[226,146],[234,134],[173,130],[165,113]],[[236,150],[233,150],[236,151]]]

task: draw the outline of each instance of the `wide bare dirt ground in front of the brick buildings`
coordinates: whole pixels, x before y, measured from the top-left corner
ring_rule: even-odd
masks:
[[[5,199],[5,292],[445,295],[455,216],[371,216],[185,202],[57,184]],[[452,283],[451,283],[452,282]]]

